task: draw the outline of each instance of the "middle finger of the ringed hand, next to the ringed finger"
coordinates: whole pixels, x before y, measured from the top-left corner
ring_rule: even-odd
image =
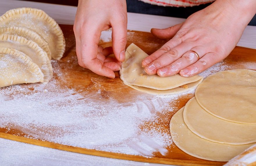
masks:
[[[156,74],[158,69],[161,69],[173,63],[175,60],[182,57],[182,55],[190,49],[191,43],[181,43],[180,45],[177,45],[176,47],[161,55],[159,58],[147,65],[144,70],[147,74]]]

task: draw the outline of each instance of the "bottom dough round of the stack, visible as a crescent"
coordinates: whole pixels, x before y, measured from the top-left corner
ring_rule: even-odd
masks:
[[[202,139],[189,130],[183,120],[181,108],[170,121],[173,142],[185,153],[205,160],[229,161],[253,144],[227,145]]]

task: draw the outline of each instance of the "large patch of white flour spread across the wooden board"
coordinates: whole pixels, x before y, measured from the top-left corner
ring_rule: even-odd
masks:
[[[57,75],[63,73],[55,68]],[[25,137],[41,139],[107,152],[152,157],[165,155],[172,144],[163,126],[143,128],[156,122],[156,115],[168,115],[175,96],[141,93],[135,100],[118,103],[109,96],[101,100],[99,90],[87,95],[70,88],[60,88],[57,80],[48,84],[14,85],[0,89],[0,127],[22,132]],[[163,118],[163,121],[166,120]]]

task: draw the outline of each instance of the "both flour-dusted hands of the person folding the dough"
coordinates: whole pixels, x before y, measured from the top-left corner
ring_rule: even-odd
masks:
[[[204,71],[230,54],[255,12],[255,0],[216,0],[184,23],[166,29],[152,28],[154,36],[170,40],[142,61],[145,72],[161,77],[177,73],[190,77]],[[116,59],[105,58],[112,53],[111,48],[104,51],[104,56],[98,53],[102,50],[98,49],[101,31],[110,27]],[[114,78],[113,71],[118,71],[120,62],[125,60],[126,2],[79,0],[74,32],[79,65]]]

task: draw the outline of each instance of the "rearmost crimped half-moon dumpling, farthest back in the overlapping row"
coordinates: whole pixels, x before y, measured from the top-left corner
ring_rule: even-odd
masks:
[[[44,11],[33,8],[18,8],[7,11],[0,17],[3,27],[26,27],[38,33],[48,43],[52,58],[59,60],[65,51],[65,38],[59,25]]]

